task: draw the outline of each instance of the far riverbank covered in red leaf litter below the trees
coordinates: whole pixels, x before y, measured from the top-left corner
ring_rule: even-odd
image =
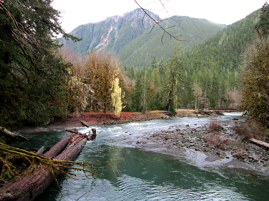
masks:
[[[166,112],[163,110],[153,110],[146,113],[141,112],[121,112],[120,117],[114,113],[107,112],[84,112],[80,114],[69,114],[59,119],[51,121],[46,126],[40,127],[22,127],[16,129],[19,133],[37,133],[46,130],[64,130],[74,127],[83,127],[81,121],[88,126],[107,125],[107,124],[124,124],[132,121],[146,121],[152,119],[166,119],[169,117],[191,117],[191,116],[217,116],[221,113],[218,111],[195,112],[195,110],[177,110],[176,112]]]

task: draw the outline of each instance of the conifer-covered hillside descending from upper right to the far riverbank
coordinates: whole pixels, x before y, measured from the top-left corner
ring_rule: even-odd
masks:
[[[130,108],[144,110],[141,106],[143,99],[148,100],[146,106],[149,109],[160,107],[167,109],[171,99],[172,108],[186,107],[199,110],[209,107],[238,107],[241,55],[256,37],[254,24],[258,21],[258,17],[259,10],[226,26],[213,37],[186,51],[180,51],[177,45],[176,53],[165,57],[166,61],[153,57],[151,64],[146,65],[143,70],[126,67],[127,75],[135,80],[133,98],[129,101]],[[186,29],[188,26],[185,24],[184,27]],[[173,42],[175,46],[176,41]],[[181,42],[180,46],[184,47],[185,43],[187,42]],[[155,49],[158,49],[157,45],[156,47]],[[142,48],[146,49],[143,46]],[[149,51],[148,57],[155,54],[156,51]],[[171,77],[171,74],[174,77]],[[141,85],[141,79],[144,85]],[[173,81],[174,86],[171,86]],[[170,92],[167,89],[169,85]],[[147,93],[143,93],[143,90]]]

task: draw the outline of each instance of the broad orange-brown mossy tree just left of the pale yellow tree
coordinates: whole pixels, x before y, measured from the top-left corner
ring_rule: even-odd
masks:
[[[95,102],[103,108],[103,113],[112,110],[112,83],[119,79],[121,86],[120,63],[111,52],[90,52],[85,57],[85,80],[94,91]]]

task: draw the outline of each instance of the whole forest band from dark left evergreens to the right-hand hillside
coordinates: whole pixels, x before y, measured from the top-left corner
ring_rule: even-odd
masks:
[[[175,40],[169,57],[156,59],[152,54],[150,64],[134,66],[121,64],[108,50],[82,55],[57,44],[51,37],[56,32],[74,42],[81,38],[61,29],[59,12],[49,3],[29,2],[21,8],[16,1],[2,2],[0,123],[33,125],[52,116],[98,110],[120,114],[238,108],[244,87],[242,55],[257,35],[264,34],[256,34],[260,28],[255,30],[253,23],[259,12],[185,51],[183,42]]]

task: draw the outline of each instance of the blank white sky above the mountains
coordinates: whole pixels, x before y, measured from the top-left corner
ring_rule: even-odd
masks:
[[[137,0],[161,18],[173,15],[205,18],[219,24],[232,24],[262,7],[265,0]],[[62,11],[62,28],[67,32],[81,24],[123,15],[138,8],[134,0],[54,0],[54,9]]]

